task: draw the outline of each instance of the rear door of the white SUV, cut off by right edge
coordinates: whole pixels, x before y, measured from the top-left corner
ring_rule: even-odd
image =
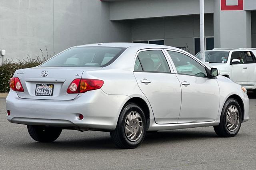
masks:
[[[254,86],[256,83],[256,58],[252,51],[243,51],[245,69],[247,70],[247,83],[244,86]]]

